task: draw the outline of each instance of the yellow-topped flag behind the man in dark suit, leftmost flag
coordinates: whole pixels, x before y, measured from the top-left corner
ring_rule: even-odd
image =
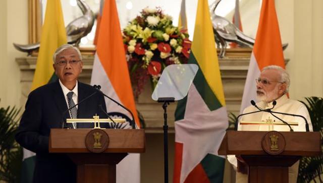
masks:
[[[58,47],[66,43],[67,37],[61,1],[47,1],[45,21],[42,26],[40,48],[34,78],[31,84],[31,91],[57,79],[52,66],[52,55]],[[35,153],[24,149],[21,177],[24,182],[32,182],[34,167]]]

